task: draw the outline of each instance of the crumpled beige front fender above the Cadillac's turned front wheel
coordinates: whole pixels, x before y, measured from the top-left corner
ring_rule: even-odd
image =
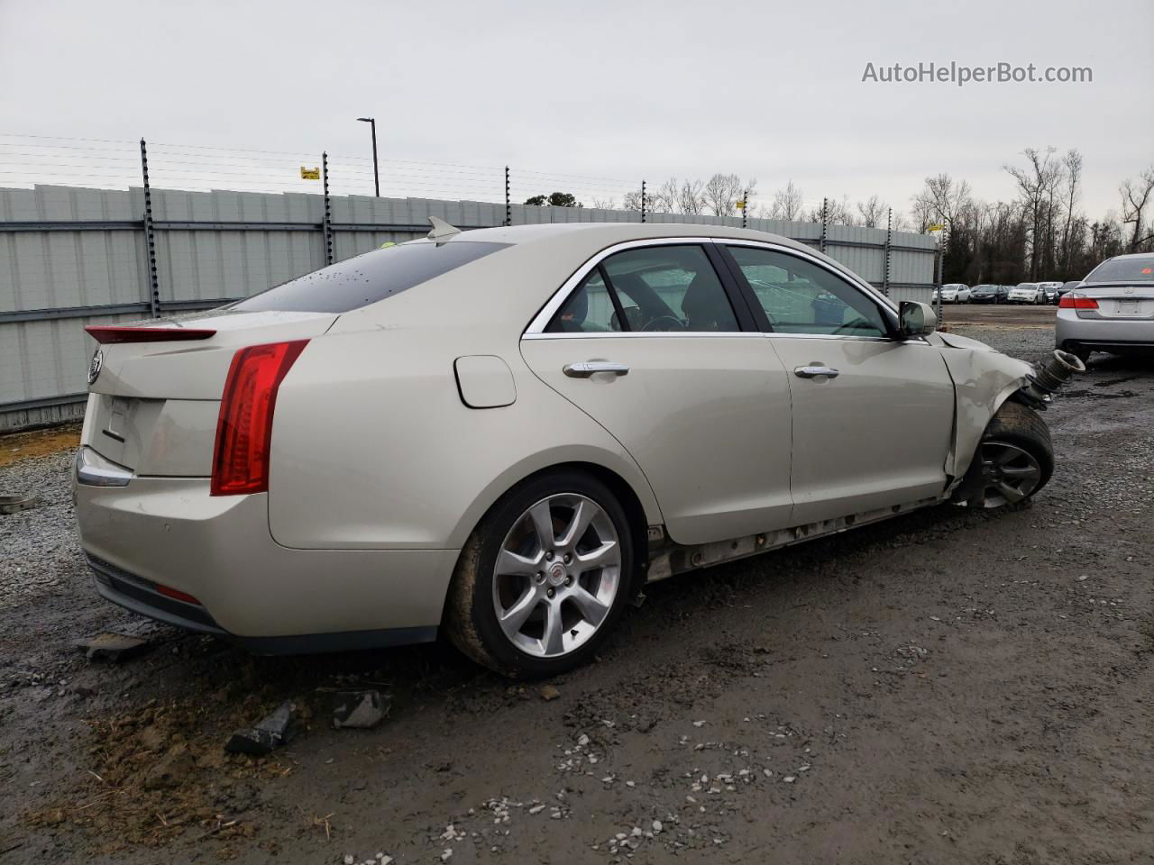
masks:
[[[969,467],[990,419],[1011,393],[1026,384],[1033,367],[954,333],[934,333],[929,341],[941,348],[954,384],[953,450],[946,457],[945,471],[957,484]]]

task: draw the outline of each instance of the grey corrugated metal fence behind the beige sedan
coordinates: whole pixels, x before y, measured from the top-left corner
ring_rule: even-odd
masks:
[[[93,351],[84,326],[208,309],[428,232],[504,224],[505,205],[37,186],[0,189],[0,431],[82,416]],[[325,206],[328,204],[328,208]],[[511,224],[639,221],[638,211],[515,204]],[[740,225],[740,217],[649,213],[653,223]],[[922,234],[749,219],[825,251],[896,299],[929,302],[936,241]]]

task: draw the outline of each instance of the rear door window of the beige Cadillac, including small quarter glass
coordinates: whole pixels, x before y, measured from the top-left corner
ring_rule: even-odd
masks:
[[[565,300],[549,333],[736,332],[741,328],[699,246],[627,249],[605,258]]]

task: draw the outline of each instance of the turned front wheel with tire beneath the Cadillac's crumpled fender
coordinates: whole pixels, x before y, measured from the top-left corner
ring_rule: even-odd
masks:
[[[1046,421],[1020,403],[1004,403],[982,434],[954,501],[986,510],[1021,504],[1052,474],[1054,444]]]

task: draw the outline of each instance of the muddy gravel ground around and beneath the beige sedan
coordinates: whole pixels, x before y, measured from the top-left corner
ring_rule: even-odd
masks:
[[[0,865],[1152,862],[1154,363],[1095,360],[1047,421],[1033,506],[655,585],[549,701],[439,645],[258,659],[149,625],[90,587],[70,454],[16,461],[0,487],[45,504],[0,517]],[[87,661],[106,627],[151,652]],[[383,725],[331,729],[351,685]],[[223,754],[286,699],[299,738]]]

